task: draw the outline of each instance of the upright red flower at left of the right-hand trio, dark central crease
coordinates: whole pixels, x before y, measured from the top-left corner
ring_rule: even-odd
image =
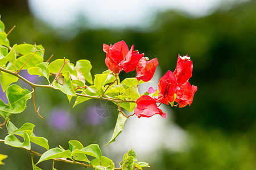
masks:
[[[176,78],[172,71],[168,70],[166,74],[162,76],[158,84],[159,93],[157,101],[163,104],[169,104],[174,101],[174,94],[179,87],[177,87]]]

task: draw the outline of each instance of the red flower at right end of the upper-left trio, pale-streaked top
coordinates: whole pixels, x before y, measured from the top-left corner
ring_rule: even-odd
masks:
[[[136,72],[137,76],[136,78],[139,80],[143,80],[144,82],[148,82],[149,80],[152,79],[156,66],[158,66],[158,59],[153,58],[150,61],[147,61],[147,57],[141,58],[139,61]]]

